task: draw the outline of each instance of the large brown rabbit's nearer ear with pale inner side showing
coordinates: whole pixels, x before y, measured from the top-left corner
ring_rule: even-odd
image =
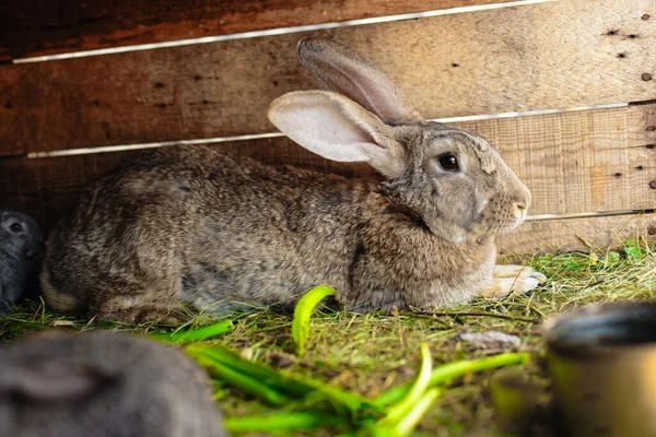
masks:
[[[367,162],[389,178],[400,176],[405,169],[403,147],[393,129],[339,94],[285,94],[271,103],[269,119],[289,138],[325,158]]]

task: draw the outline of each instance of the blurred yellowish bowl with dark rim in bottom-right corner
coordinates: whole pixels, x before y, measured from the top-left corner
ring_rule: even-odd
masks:
[[[555,408],[574,436],[656,436],[656,303],[588,307],[544,334]]]

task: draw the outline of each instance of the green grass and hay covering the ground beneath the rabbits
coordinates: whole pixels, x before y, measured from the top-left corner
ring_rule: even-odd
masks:
[[[548,375],[542,359],[540,322],[591,303],[656,297],[655,249],[644,243],[629,241],[618,251],[534,258],[529,264],[549,277],[543,286],[522,296],[497,300],[479,298],[470,305],[449,308],[440,316],[408,311],[353,315],[319,305],[311,318],[309,336],[305,352],[300,357],[295,355],[292,340],[293,315],[274,309],[231,315],[234,330],[202,344],[221,344],[243,358],[284,369],[284,375],[312,378],[373,399],[414,379],[421,363],[422,343],[430,346],[433,367],[436,368],[456,359],[508,352],[477,350],[455,338],[462,330],[499,330],[520,336],[520,350],[531,355],[522,371],[530,378],[544,381]],[[185,329],[201,327],[210,321],[218,320],[207,317],[196,319]],[[43,304],[27,303],[19,308],[19,312],[0,320],[0,342],[9,342],[26,332],[42,329],[43,324],[69,330],[98,328],[85,320],[50,314]],[[166,331],[154,324],[129,327],[102,323],[101,327],[140,333]],[[427,409],[414,435],[501,435],[494,425],[488,390],[495,371],[484,370],[454,379]],[[227,417],[261,417],[289,412],[285,406],[260,402],[222,381],[218,381],[215,387],[216,402]],[[312,420],[301,413],[280,417],[289,423]],[[281,423],[284,426],[285,422]],[[276,434],[290,433],[279,430]],[[319,428],[309,434],[333,433],[328,428]]]

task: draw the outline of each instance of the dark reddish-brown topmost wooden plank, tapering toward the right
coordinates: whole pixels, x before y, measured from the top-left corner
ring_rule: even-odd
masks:
[[[5,0],[0,61],[503,0]]]

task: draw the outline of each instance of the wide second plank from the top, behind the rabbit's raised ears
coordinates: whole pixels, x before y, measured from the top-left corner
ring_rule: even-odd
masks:
[[[4,66],[19,126],[0,141],[47,151],[271,131],[273,98],[317,87],[295,58],[309,35],[370,56],[430,118],[647,101],[656,26],[641,16],[653,7],[571,0]]]

